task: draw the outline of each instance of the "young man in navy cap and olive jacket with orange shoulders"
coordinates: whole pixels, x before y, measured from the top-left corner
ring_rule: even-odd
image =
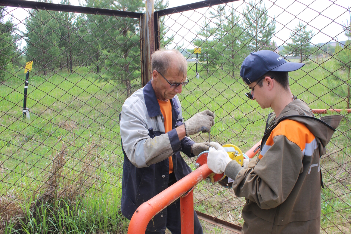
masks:
[[[261,151],[242,168],[223,147],[211,142],[208,168],[235,178],[234,193],[246,198],[241,233],[319,233],[319,158],[342,116],[316,119],[307,104],[292,95],[288,72],[302,66],[273,51],[247,56],[240,70],[251,89],[246,96],[261,108],[273,109]]]

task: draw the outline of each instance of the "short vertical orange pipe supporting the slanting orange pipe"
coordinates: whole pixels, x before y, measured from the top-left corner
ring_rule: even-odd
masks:
[[[180,197],[180,232],[194,234],[194,190]]]

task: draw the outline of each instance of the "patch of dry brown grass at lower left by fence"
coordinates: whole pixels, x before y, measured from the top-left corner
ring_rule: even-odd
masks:
[[[82,154],[72,170],[72,165],[69,165],[72,157],[67,151],[73,142],[68,143],[69,139],[70,137],[67,141],[60,139],[57,142],[62,144],[61,149],[53,156],[50,168],[41,183],[35,188],[30,183],[23,188],[22,193],[15,192],[15,189],[7,190],[7,194],[0,197],[0,234],[4,225],[11,219],[14,217],[21,219],[26,215],[25,204],[30,205],[30,211],[34,214],[37,207],[51,204],[58,199],[68,200],[73,205],[88,189],[95,187],[98,181],[95,172],[101,165],[93,153],[97,145],[90,143],[82,147],[85,154]],[[1,162],[0,165],[0,173],[4,174],[7,168],[2,167]]]

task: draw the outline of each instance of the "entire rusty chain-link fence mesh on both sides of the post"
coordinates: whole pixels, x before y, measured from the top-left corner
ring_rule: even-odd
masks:
[[[112,202],[113,214],[120,214],[118,114],[145,78],[144,5],[135,2],[127,8],[119,1],[1,7],[0,228],[38,204],[59,199],[90,199],[91,206]],[[342,109],[344,116],[321,160],[321,232],[350,233],[350,9],[342,1],[226,2],[203,1],[154,14],[155,47],[177,48],[188,60],[191,82],[178,95],[184,118],[210,109],[216,115],[211,140],[245,152],[261,139],[270,110],[246,98],[241,62],[260,49],[304,62],[289,73],[293,94],[312,109]],[[201,52],[195,54],[194,48]],[[26,83],[29,61],[33,67]],[[316,112],[316,117],[325,115]],[[208,135],[198,134],[194,141],[208,141]],[[187,160],[194,169],[195,159]],[[243,224],[245,200],[232,189],[203,181],[194,197],[199,216]]]

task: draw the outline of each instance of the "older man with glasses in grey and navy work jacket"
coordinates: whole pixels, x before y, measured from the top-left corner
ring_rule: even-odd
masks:
[[[197,156],[208,143],[195,143],[189,135],[209,132],[214,114],[197,113],[183,123],[180,101],[187,63],[179,51],[159,50],[152,54],[152,79],[133,93],[122,106],[120,132],[124,153],[122,214],[131,219],[135,210],[168,186],[191,172],[180,156]],[[180,234],[179,199],[150,221],[146,233]],[[194,212],[194,233],[202,228]]]

